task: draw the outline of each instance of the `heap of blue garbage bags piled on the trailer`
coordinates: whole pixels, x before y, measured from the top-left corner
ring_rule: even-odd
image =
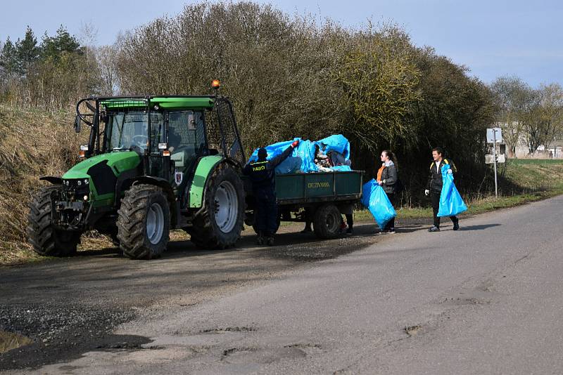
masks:
[[[294,140],[299,140],[299,145],[293,150],[291,155],[276,167],[277,174],[287,173],[312,173],[318,172],[319,167],[315,164],[315,145],[327,154],[329,151],[336,151],[343,155],[346,160],[350,159],[350,142],[345,136],[336,134],[323,138],[322,140],[302,140],[294,138],[293,140],[285,140],[283,142],[274,143],[264,147],[268,153],[267,159],[276,157],[286,150]],[[255,162],[258,159],[258,149],[254,150],[249,162]],[[351,171],[350,166],[341,165],[330,168],[332,171]]]

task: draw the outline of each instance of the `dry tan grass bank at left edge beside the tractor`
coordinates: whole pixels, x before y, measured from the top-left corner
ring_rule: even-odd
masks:
[[[0,264],[34,258],[25,242],[27,204],[44,185],[39,176],[61,176],[77,162],[80,137],[72,114],[22,111],[0,105]]]

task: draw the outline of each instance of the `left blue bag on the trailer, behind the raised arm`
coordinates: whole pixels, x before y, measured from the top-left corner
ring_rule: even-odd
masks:
[[[293,140],[300,140],[298,147],[276,167],[276,173],[287,174],[318,171],[319,168],[315,164],[315,143],[310,140],[301,140],[301,138],[294,138]],[[267,159],[270,160],[272,157],[282,154],[293,143],[293,140],[284,140],[264,147],[268,153]],[[258,149],[254,150],[248,162],[255,162],[256,160],[258,160]]]

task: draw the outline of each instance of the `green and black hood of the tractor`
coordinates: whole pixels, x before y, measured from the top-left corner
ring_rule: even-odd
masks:
[[[95,176],[96,174],[108,175],[110,171],[113,172],[113,176],[105,177],[115,178],[124,171],[136,168],[140,162],[141,157],[134,151],[109,152],[76,164],[63,174],[63,178],[94,178],[97,180],[101,176]]]

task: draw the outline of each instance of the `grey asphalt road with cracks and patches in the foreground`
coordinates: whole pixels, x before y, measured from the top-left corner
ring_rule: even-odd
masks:
[[[271,252],[179,255],[163,259],[161,268],[134,263],[139,279],[151,276],[144,288],[158,292],[151,294],[153,301],[144,301],[124,290],[125,302],[109,304],[118,311],[115,322],[106,336],[94,335],[88,342],[106,339],[110,345],[82,348],[74,360],[36,364],[34,370],[17,369],[20,363],[8,372],[560,374],[562,211],[563,197],[556,197],[463,220],[457,232],[450,223],[438,233],[412,225],[380,236],[366,227],[353,239],[301,241]],[[301,238],[286,236],[288,244]],[[301,255],[295,256],[294,249]],[[317,261],[304,263],[306,250],[317,254],[312,257]],[[203,272],[195,288],[201,294],[182,291],[189,284],[182,282],[186,275],[197,275],[198,258],[209,268],[213,257],[218,257],[214,274],[227,281],[205,289],[200,284],[208,274]],[[245,266],[229,267],[241,258]],[[107,287],[118,291],[115,283],[137,274],[132,263],[111,260],[117,262],[115,269],[83,277],[115,272],[119,277],[108,277]],[[14,287],[13,275],[24,282],[28,270],[41,267],[8,270],[0,277]],[[88,275],[87,269],[82,272]],[[28,303],[26,293],[23,288],[21,300],[11,296],[8,305]],[[107,291],[82,293],[93,296],[92,305],[108,296]],[[126,316],[127,308],[137,308],[133,317]]]

